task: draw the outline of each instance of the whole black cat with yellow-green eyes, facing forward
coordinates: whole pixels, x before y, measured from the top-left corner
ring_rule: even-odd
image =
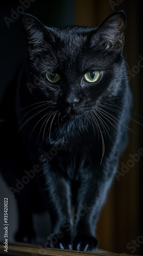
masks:
[[[16,240],[31,242],[32,212],[49,210],[46,247],[95,250],[96,224],[127,143],[126,15],[115,12],[97,29],[47,28],[28,14],[22,24],[29,59],[1,104],[1,167],[18,203]]]

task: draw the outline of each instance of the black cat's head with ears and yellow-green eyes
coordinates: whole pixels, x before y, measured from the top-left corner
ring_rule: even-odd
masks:
[[[122,50],[126,30],[123,11],[111,14],[99,28],[43,26],[22,15],[30,69],[37,79],[31,97],[49,100],[61,117],[81,117],[123,90]]]

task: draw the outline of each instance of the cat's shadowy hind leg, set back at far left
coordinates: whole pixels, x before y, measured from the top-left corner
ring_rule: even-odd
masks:
[[[33,229],[32,215],[18,205],[18,231],[15,234],[16,242],[33,243],[35,231]]]

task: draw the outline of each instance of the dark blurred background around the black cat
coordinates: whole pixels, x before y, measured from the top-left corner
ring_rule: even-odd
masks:
[[[23,2],[23,0],[21,1]],[[121,172],[123,162],[127,165],[131,159],[130,154],[138,154],[143,148],[142,139],[142,68],[138,66],[143,59],[142,36],[142,2],[141,0],[35,0],[30,2],[25,12],[36,16],[44,25],[82,25],[89,27],[99,26],[113,11],[124,10],[127,15],[127,32],[125,36],[124,56],[128,63],[130,86],[133,93],[133,109],[129,133],[129,143],[126,152],[120,160],[118,171]],[[1,96],[4,90],[14,79],[19,66],[24,65],[27,59],[25,37],[22,32],[20,18],[9,24],[4,17],[11,18],[12,10],[21,6],[20,1],[5,2],[0,4],[1,39],[0,39],[0,85]],[[141,60],[143,66],[143,60]],[[0,117],[1,120],[1,117]],[[138,124],[141,123],[141,124]],[[3,125],[1,120],[0,125]],[[130,162],[131,164],[131,162]],[[138,162],[132,162],[126,174],[115,176],[109,191],[106,203],[102,209],[97,227],[99,247],[116,253],[129,253],[143,255],[143,221],[142,221],[142,175],[143,156]],[[118,178],[117,178],[118,177]],[[1,213],[3,216],[4,197],[9,197],[9,239],[12,240],[13,232],[17,227],[15,201],[1,180]],[[1,218],[3,219],[3,218]],[[0,239],[3,240],[3,223],[0,220]]]

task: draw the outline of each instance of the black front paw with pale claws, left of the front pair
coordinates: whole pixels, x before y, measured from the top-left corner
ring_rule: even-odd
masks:
[[[65,249],[65,250],[73,250],[73,242],[70,236],[67,234],[57,233],[52,234],[48,237],[48,247],[57,248],[57,249]]]

